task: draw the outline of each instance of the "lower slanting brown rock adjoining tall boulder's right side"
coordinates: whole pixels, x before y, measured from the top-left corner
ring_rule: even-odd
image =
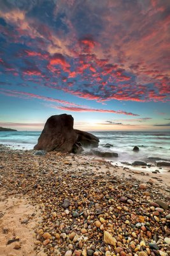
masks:
[[[76,129],[74,129],[74,132],[78,135],[77,141],[80,142],[83,147],[95,148],[99,146],[99,139],[93,134]]]

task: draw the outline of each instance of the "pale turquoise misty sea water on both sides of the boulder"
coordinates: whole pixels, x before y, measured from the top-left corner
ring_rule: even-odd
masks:
[[[103,148],[110,143],[113,152],[118,153],[113,161],[145,161],[146,157],[170,158],[170,132],[120,132],[103,131],[91,132],[100,140],[99,147]],[[17,131],[0,132],[0,144],[14,149],[33,149],[41,132]],[[133,152],[134,146],[139,147],[139,152]],[[105,148],[107,150],[107,148]]]

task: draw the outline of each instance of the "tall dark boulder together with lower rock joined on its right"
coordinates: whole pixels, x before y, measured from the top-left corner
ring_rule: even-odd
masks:
[[[96,136],[89,132],[74,130],[73,124],[74,119],[71,115],[50,116],[34,149],[77,154],[83,151],[81,145],[98,147],[99,139]]]

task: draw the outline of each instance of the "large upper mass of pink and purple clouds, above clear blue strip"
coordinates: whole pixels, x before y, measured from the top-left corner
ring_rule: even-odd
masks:
[[[105,102],[168,102],[169,0],[1,0],[0,72]]]

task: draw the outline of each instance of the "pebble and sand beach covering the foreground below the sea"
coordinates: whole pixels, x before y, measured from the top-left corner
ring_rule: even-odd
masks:
[[[168,170],[34,152],[0,147],[0,255],[170,254]]]

